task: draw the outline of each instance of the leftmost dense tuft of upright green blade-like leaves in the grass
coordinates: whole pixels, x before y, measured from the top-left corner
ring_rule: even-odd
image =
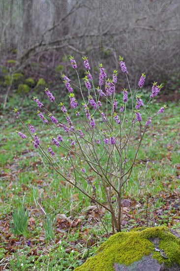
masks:
[[[28,228],[28,210],[24,206],[19,206],[12,214],[13,227],[11,231],[15,236],[25,235]]]

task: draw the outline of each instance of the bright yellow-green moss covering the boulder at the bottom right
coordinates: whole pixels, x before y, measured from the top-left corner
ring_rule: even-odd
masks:
[[[159,239],[158,248],[164,250],[167,259],[154,250],[150,239],[155,237]],[[167,227],[140,228],[129,233],[118,233],[107,239],[96,251],[96,255],[76,271],[114,271],[115,263],[128,266],[150,254],[159,264],[180,265],[180,240]]]

